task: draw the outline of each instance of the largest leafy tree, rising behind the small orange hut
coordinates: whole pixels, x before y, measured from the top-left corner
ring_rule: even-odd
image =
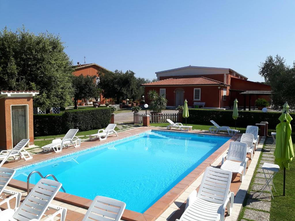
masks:
[[[0,90],[38,90],[34,106],[72,103],[73,64],[59,35],[0,31]]]

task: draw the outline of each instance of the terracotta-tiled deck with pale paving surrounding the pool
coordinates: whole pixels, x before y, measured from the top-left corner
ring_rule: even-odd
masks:
[[[155,127],[139,127],[134,128],[128,131],[123,131],[118,133],[119,136],[110,136],[104,141],[86,141],[81,143],[80,147],[73,148],[64,148],[62,152],[55,153],[40,153],[40,154],[34,154],[33,159],[24,161],[24,160],[18,160],[18,161],[9,161],[8,163],[4,164],[4,167],[8,168],[18,168],[26,165],[30,165],[33,163],[37,163],[40,161],[44,161],[47,159],[52,159],[58,156],[63,156],[66,154],[70,154],[76,151],[80,151],[83,149],[88,149],[90,147],[98,146],[101,144],[108,143],[110,141],[116,141],[121,138],[127,137],[127,136],[133,136],[148,130],[164,130],[164,128],[155,128]],[[170,131],[178,131],[179,130],[170,130]],[[188,131],[183,133],[198,133],[198,134],[205,134],[205,135],[212,135],[205,131]],[[226,134],[216,134],[215,136],[227,136]],[[184,205],[186,198],[192,192],[194,189],[198,189],[199,185],[201,184],[201,178],[202,174],[204,173],[205,169],[208,166],[217,166],[220,165],[222,155],[226,153],[228,150],[229,144],[231,141],[237,140],[239,135],[231,136],[230,140],[228,140],[224,145],[222,145],[219,149],[217,149],[213,154],[211,154],[205,161],[203,161],[199,166],[197,166],[191,173],[189,173],[185,178],[183,178],[178,184],[176,184],[170,191],[168,191],[163,197],[161,197],[157,202],[155,202],[148,210],[146,210],[144,213],[134,212],[131,210],[125,210],[124,214],[122,216],[122,220],[127,221],[154,221],[157,219],[157,221],[161,220],[175,220],[179,219],[181,214],[184,211]],[[249,160],[249,164],[251,163],[251,160]],[[237,193],[239,187],[241,185],[240,177],[239,175],[233,176],[232,183],[230,185],[230,190]],[[32,188],[34,185],[30,184],[30,188]],[[16,188],[21,190],[27,190],[27,183],[23,181],[18,181],[16,179],[12,179],[12,181],[9,183],[10,188]],[[23,198],[22,198],[23,199]],[[55,203],[59,203],[59,205],[63,206],[69,205],[73,207],[73,210],[69,208],[68,206],[68,215],[66,217],[67,221],[79,221],[82,220],[83,214],[85,214],[86,210],[90,206],[92,200],[86,199],[83,197],[78,197],[75,195],[71,195],[68,193],[59,192],[55,197]],[[78,210],[77,208],[80,208]],[[85,208],[83,210],[83,208]],[[173,210],[174,208],[174,210]],[[75,209],[75,211],[74,211]],[[79,211],[83,211],[80,213]]]

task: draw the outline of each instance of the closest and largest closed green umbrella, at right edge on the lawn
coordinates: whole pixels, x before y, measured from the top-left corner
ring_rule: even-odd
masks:
[[[289,170],[289,163],[294,157],[290,125],[292,118],[285,111],[278,119],[281,123],[276,126],[276,149],[273,154],[278,165],[284,167],[283,195],[285,196],[286,169]]]

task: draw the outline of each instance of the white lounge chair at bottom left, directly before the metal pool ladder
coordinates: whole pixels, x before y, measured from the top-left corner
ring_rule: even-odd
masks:
[[[53,221],[57,215],[64,221],[67,209],[50,204],[61,185],[54,180],[40,179],[16,211],[7,209],[0,212],[1,221],[39,221],[47,209],[57,211],[44,221]]]

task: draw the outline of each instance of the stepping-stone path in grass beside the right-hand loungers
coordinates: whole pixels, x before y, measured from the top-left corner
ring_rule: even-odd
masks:
[[[273,151],[275,146],[271,146],[273,143],[272,138],[268,138],[262,150],[262,158],[258,162],[256,167],[256,175],[253,185],[248,190],[248,200],[245,206],[243,219],[241,221],[254,220],[254,221],[269,221],[270,209],[271,209],[271,193],[266,187],[260,196],[261,188],[266,183],[263,171],[261,169],[263,163],[274,163]],[[272,190],[273,191],[273,190]]]

